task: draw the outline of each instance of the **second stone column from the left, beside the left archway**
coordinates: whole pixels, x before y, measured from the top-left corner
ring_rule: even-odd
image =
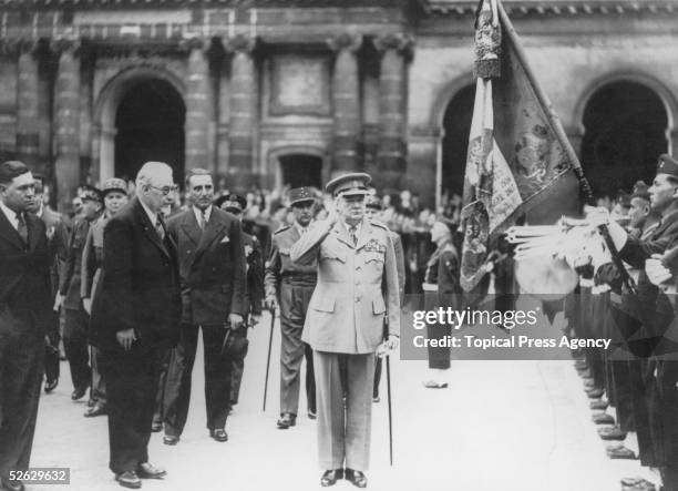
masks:
[[[58,40],[55,85],[55,177],[60,209],[71,207],[80,185],[80,42]]]

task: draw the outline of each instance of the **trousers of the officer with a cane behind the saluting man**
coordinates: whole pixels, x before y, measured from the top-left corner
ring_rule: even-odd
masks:
[[[280,285],[280,415],[297,415],[301,385],[301,360],[306,358],[306,398],[308,410],[316,412],[314,356],[310,346],[301,340],[304,321],[312,285]]]

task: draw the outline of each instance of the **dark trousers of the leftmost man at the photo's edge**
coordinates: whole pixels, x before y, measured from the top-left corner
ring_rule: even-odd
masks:
[[[0,313],[0,477],[27,470],[42,381],[44,338],[32,320]]]

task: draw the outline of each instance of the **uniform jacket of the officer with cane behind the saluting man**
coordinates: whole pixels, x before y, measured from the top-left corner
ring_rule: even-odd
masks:
[[[273,236],[270,257],[266,262],[266,295],[277,295],[280,293],[280,282],[284,277],[301,278],[305,277],[315,283],[318,274],[318,262],[315,257],[307,264],[296,264],[290,258],[292,245],[299,241],[301,234],[294,225],[278,228]]]

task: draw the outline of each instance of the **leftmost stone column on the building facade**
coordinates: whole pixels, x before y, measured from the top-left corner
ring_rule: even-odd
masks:
[[[21,41],[17,83],[17,155],[33,171],[40,163],[39,72],[34,41]]]

